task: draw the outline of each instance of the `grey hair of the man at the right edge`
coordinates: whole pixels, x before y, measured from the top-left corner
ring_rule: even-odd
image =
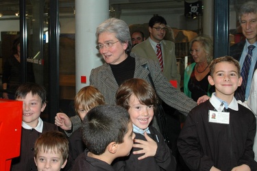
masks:
[[[238,12],[238,21],[241,23],[241,16],[243,14],[254,13],[257,14],[257,2],[256,1],[247,1],[243,3],[239,12]]]

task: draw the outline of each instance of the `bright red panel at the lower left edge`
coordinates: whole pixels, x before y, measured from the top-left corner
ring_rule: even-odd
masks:
[[[0,99],[0,170],[10,170],[20,155],[22,113],[22,101]]]

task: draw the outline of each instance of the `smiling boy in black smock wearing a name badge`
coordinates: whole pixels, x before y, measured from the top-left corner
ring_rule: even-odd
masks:
[[[242,83],[238,62],[230,56],[212,60],[208,81],[215,92],[188,114],[178,138],[180,154],[191,170],[256,170],[256,118],[234,98]]]

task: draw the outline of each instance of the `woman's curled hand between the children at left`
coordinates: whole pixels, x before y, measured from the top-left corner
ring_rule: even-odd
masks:
[[[61,127],[65,131],[71,130],[72,126],[70,118],[64,113],[56,114],[54,124],[56,124],[58,127]]]

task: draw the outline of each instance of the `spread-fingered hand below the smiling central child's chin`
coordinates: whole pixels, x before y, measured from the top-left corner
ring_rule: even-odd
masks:
[[[138,157],[138,160],[145,159],[146,157],[156,155],[156,150],[158,147],[157,143],[153,139],[151,139],[151,137],[149,137],[147,135],[146,131],[145,131],[144,135],[145,135],[145,138],[147,139],[147,141],[134,139],[134,142],[136,142],[138,144],[133,144],[133,147],[134,148],[142,148],[142,150],[134,151],[133,154],[134,155],[145,154],[141,157]]]

